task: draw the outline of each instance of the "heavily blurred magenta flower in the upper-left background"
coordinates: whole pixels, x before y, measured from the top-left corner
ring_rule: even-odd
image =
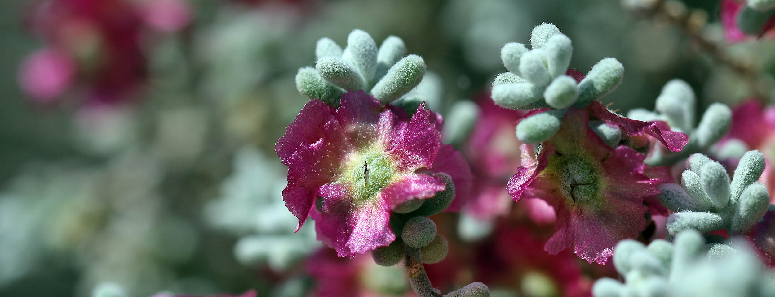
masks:
[[[57,84],[52,90],[31,87],[46,86],[50,83],[45,78],[62,74],[54,67],[38,67],[38,74],[30,75],[25,63],[19,70],[22,89],[46,101],[75,86],[84,88],[87,101],[129,100],[146,80],[146,43],[151,41],[146,37],[153,32],[174,32],[190,19],[181,0],[37,1],[26,24],[43,39],[46,50],[56,50],[60,60],[71,61],[71,84]]]

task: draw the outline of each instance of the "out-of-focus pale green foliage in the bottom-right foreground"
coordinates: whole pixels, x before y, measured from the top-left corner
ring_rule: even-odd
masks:
[[[764,268],[745,243],[705,244],[697,231],[677,234],[675,241],[648,246],[620,241],[614,266],[624,283],[601,278],[592,287],[596,297],[646,296],[771,296],[772,271]]]

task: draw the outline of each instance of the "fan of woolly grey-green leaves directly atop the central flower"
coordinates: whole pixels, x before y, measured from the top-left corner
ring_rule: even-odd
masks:
[[[315,47],[315,67],[298,70],[296,88],[334,107],[348,90],[366,90],[383,104],[391,103],[417,87],[425,75],[425,60],[406,52],[396,36],[388,36],[377,48],[369,33],[359,29],[350,32],[344,49],[324,37]]]

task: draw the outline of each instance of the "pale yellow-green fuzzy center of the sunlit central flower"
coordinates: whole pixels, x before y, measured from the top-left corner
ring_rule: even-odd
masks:
[[[372,198],[396,177],[395,167],[380,145],[356,152],[346,163],[342,180],[350,186],[356,202]]]

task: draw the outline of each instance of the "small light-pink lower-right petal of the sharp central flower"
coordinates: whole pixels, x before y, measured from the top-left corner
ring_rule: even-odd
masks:
[[[424,199],[436,196],[446,186],[443,179],[428,174],[409,173],[391,183],[381,192],[381,200],[390,203],[391,210],[412,199]]]

